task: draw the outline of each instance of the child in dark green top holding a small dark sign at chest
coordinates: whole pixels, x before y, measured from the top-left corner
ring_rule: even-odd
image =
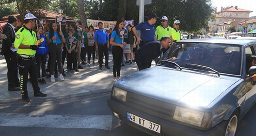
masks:
[[[68,58],[68,64],[67,64],[67,69],[68,69],[68,73],[72,72],[72,70],[76,70],[76,45],[72,46],[72,44],[70,44],[69,39],[73,38],[75,39],[73,35],[73,30],[68,30],[68,37],[66,38],[66,45],[65,48],[67,49],[67,58]],[[77,44],[77,43],[76,43]]]

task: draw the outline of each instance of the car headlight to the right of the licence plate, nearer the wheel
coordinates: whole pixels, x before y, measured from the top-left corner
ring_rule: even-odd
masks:
[[[179,106],[176,106],[173,119],[202,128],[209,128],[212,121],[211,113],[209,112],[199,112]]]

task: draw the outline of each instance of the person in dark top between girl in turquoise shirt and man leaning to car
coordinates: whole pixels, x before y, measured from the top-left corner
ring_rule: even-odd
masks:
[[[133,61],[133,52],[132,52],[132,50],[133,50],[133,48],[136,47],[136,37],[135,37],[134,33],[132,32],[132,25],[128,24],[127,28],[128,28],[127,44],[130,44],[131,53],[126,54],[126,63],[128,62],[129,64],[132,64],[132,61]],[[129,55],[131,56],[131,60],[129,60]]]

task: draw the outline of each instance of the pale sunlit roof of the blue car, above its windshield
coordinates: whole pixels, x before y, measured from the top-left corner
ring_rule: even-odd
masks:
[[[214,44],[237,44],[246,46],[250,43],[256,43],[255,40],[235,40],[235,39],[211,39],[211,38],[203,38],[203,39],[188,39],[188,40],[180,40],[177,42],[201,42],[201,43],[214,43]]]

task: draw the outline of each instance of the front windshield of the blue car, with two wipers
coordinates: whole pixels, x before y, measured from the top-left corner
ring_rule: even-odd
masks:
[[[207,71],[240,75],[241,54],[241,46],[238,45],[178,42],[164,54],[158,64],[167,67],[178,64],[183,68],[207,70],[204,66],[208,67]]]

